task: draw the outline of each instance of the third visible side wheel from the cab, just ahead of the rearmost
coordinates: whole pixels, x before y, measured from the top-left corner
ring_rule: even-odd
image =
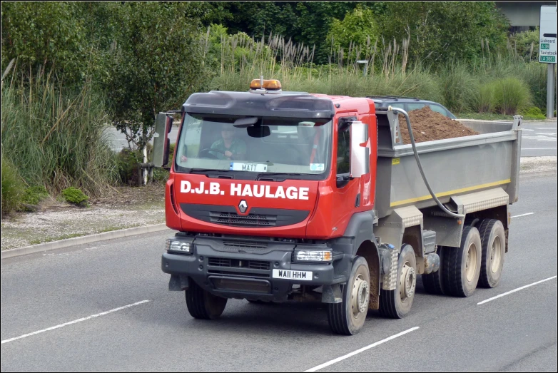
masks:
[[[470,297],[479,282],[482,249],[479,230],[463,228],[460,247],[447,247],[442,262],[443,287],[448,295]]]

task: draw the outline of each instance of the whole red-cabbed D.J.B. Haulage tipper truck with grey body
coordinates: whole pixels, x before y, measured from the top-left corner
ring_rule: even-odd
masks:
[[[156,120],[158,166],[171,117]],[[434,294],[497,286],[521,117],[417,144],[402,143],[400,124],[412,135],[401,109],[263,78],[247,92],[191,95],[168,165],[169,290],[207,320],[228,299],[318,300],[333,332],[355,334],[367,310],[407,315],[418,275]]]

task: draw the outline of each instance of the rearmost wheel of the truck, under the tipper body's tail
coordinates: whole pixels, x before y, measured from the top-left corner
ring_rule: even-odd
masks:
[[[506,250],[506,233],[499,220],[485,219],[479,227],[482,242],[480,260],[480,287],[497,287],[504,267]]]

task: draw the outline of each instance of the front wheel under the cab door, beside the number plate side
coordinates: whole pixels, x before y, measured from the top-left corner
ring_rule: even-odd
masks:
[[[370,301],[370,272],[364,257],[355,257],[349,281],[341,285],[343,302],[328,304],[328,322],[334,333],[353,335],[360,332]]]

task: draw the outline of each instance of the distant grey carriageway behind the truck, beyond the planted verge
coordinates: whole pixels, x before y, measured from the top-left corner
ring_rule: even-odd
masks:
[[[522,125],[522,157],[539,157],[547,155],[557,155],[557,127],[556,123],[523,123]],[[108,138],[111,140],[111,148],[120,151],[128,146],[126,136],[113,127],[106,130]],[[171,143],[176,143],[178,137],[178,126],[173,126],[168,138]]]

